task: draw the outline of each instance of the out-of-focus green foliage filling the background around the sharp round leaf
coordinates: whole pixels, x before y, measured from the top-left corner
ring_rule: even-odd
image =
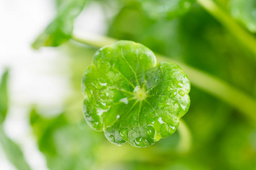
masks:
[[[256,169],[256,122],[193,83],[191,107],[183,117],[191,138],[178,129],[148,148],[118,147],[89,128],[81,111],[80,82],[97,46],[70,39],[76,17],[92,2],[100,4],[102,11],[115,11],[108,20],[107,36],[140,42],[156,53],[214,75],[244,92],[255,104],[256,53],[251,47],[256,42],[254,0],[56,1],[56,18],[32,45],[36,49],[61,45],[59,50],[70,60],[73,91],[63,103],[63,111],[49,118],[36,105],[31,106],[31,128],[48,168]],[[250,39],[242,39],[244,35]],[[1,80],[0,101],[0,142],[6,156],[17,169],[30,169],[19,146],[1,130],[8,105],[7,72]]]

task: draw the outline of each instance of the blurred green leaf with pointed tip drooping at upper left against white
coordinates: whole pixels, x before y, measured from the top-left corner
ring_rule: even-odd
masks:
[[[85,6],[86,0],[56,0],[57,16],[41,35],[34,41],[32,47],[59,46],[71,38],[73,23]]]

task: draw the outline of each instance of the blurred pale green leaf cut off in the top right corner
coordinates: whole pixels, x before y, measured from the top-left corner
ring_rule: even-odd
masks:
[[[239,20],[251,32],[256,32],[256,1],[231,0],[230,12],[233,18]]]

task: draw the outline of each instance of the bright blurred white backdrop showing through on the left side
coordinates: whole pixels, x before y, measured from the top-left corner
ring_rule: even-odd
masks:
[[[35,51],[31,43],[55,17],[52,0],[0,0],[0,75],[10,69],[10,108],[4,124],[6,134],[24,151],[32,169],[47,169],[33,138],[28,112],[32,104],[61,109],[70,92],[68,59],[56,48]],[[106,16],[96,3],[90,3],[77,18],[77,32],[102,34]],[[15,169],[0,145],[0,169]]]

